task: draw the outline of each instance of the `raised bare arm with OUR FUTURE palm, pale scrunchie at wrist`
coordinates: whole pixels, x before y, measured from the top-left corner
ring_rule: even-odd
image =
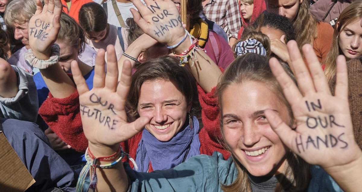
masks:
[[[37,11],[29,21],[29,44],[36,58],[48,60],[60,30],[60,0],[45,0],[44,7],[37,0]],[[75,62],[75,61],[73,61]],[[40,69],[41,75],[55,98],[66,98],[75,91],[75,84],[58,63]]]

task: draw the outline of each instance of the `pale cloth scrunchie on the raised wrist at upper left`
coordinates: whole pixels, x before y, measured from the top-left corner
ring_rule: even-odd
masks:
[[[60,47],[58,44],[54,43],[51,46],[51,56],[48,60],[40,60],[34,56],[33,50],[29,49],[28,52],[25,54],[25,61],[38,69],[46,69],[51,65],[58,63],[60,55]]]

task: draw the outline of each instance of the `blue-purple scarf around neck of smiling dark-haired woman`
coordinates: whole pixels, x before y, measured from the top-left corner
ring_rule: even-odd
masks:
[[[185,124],[188,122],[189,118],[186,119]],[[195,116],[193,116],[193,124],[193,129],[187,125],[184,130],[167,142],[157,140],[147,129],[144,129],[136,152],[137,171],[147,172],[150,161],[153,170],[164,170],[199,155],[199,121]]]

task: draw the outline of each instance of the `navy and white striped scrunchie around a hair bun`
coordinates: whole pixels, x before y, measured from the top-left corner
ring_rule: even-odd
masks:
[[[258,40],[247,39],[236,44],[235,52],[237,56],[244,55],[246,53],[256,53],[262,56],[266,56],[266,50]]]

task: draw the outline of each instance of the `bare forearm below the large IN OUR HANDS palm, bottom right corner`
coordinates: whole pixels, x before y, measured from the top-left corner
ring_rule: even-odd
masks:
[[[362,183],[362,151],[358,150],[359,157],[347,165],[325,168],[325,171],[337,182],[345,192],[361,191]]]

